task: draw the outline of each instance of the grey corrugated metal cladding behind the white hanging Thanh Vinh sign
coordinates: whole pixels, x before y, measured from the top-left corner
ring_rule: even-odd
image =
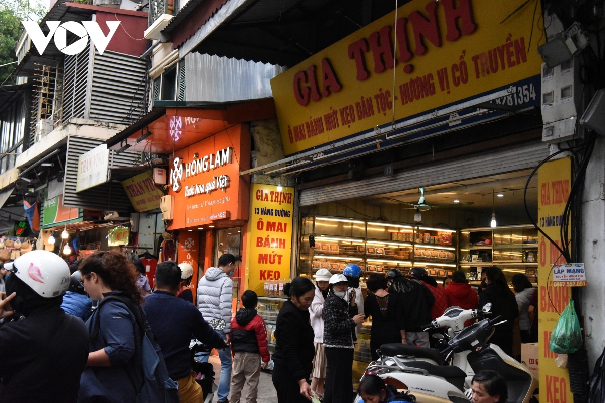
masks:
[[[126,212],[131,208],[130,200],[119,182],[103,185],[76,193],[77,159],[83,153],[92,150],[103,140],[69,136],[63,188],[63,205],[82,209]],[[116,154],[110,151],[111,167],[132,167],[139,160],[139,153],[125,151]]]

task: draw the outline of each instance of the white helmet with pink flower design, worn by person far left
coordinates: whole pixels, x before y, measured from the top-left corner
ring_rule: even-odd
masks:
[[[4,268],[41,297],[63,295],[70,285],[70,268],[67,263],[48,250],[32,250],[13,262],[5,263]]]

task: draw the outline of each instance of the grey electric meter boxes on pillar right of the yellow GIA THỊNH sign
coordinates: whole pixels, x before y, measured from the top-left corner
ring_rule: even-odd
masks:
[[[554,68],[542,64],[543,142],[557,144],[574,138],[582,98],[579,74],[580,63],[575,58]]]

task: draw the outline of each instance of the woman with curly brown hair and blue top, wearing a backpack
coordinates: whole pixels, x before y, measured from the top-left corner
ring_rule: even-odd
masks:
[[[99,301],[86,325],[90,334],[87,368],[80,378],[78,402],[134,402],[143,385],[142,335],[132,309],[143,301],[137,270],[119,252],[96,252],[80,263],[84,290]],[[106,297],[125,297],[127,303]]]

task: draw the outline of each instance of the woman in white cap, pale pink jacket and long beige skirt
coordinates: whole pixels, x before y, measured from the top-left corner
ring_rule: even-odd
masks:
[[[327,361],[325,361],[324,351],[324,319],[321,317],[324,311],[325,297],[328,296],[328,286],[332,273],[327,268],[320,268],[315,273],[315,297],[309,308],[311,315],[311,326],[315,332],[313,344],[315,344],[315,357],[313,357],[313,379],[311,381],[311,390],[320,398],[324,397],[324,381]]]

